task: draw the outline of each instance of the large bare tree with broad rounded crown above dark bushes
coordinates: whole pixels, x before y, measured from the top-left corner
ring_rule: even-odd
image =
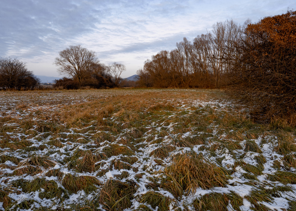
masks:
[[[59,73],[69,75],[77,80],[79,85],[88,77],[87,72],[91,67],[98,63],[96,53],[87,48],[78,46],[69,46],[59,52],[59,57],[55,58],[54,64],[59,66]]]

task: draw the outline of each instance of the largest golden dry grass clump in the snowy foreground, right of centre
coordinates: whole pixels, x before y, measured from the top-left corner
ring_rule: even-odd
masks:
[[[166,178],[162,181],[162,187],[175,197],[181,197],[183,191],[194,193],[199,187],[223,187],[229,178],[223,168],[207,162],[202,155],[189,152],[175,155],[163,174]]]

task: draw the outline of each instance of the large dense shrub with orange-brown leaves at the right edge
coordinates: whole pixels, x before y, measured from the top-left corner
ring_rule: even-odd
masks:
[[[247,25],[237,43],[230,91],[264,119],[296,124],[296,12]]]

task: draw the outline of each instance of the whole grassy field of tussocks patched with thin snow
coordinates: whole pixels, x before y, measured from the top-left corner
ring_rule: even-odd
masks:
[[[295,131],[219,90],[0,92],[0,210],[296,210]]]

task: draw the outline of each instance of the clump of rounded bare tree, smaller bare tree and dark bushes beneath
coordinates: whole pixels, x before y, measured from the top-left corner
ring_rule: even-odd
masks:
[[[76,89],[84,86],[92,88],[118,87],[122,79],[120,75],[126,70],[125,65],[114,62],[108,66],[99,62],[96,52],[82,46],[69,46],[59,52],[54,64],[58,72],[70,77],[58,82],[65,89]]]

